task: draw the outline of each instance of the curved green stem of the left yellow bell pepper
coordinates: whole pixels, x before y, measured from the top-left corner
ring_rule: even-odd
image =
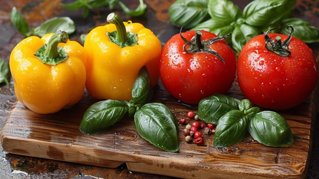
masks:
[[[66,32],[60,31],[55,33],[49,40],[47,48],[45,48],[44,54],[49,58],[56,58],[59,56],[58,44],[65,43],[69,39]]]

